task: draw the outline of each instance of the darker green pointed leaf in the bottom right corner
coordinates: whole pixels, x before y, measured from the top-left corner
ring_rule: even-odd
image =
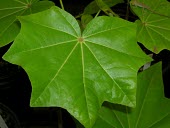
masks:
[[[138,76],[136,108],[106,104],[93,128],[169,128],[170,100],[164,97],[161,63]]]

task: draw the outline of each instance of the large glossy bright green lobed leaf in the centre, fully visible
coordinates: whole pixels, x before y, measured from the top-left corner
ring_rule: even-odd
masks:
[[[21,32],[5,60],[32,83],[31,106],[60,106],[86,128],[103,101],[135,106],[136,74],[150,61],[136,44],[134,23],[98,17],[83,33],[58,7],[20,17]]]

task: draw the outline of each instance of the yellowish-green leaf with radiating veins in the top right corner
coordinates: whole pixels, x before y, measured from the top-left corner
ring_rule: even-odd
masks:
[[[137,4],[131,8],[140,19],[136,22],[137,40],[155,53],[170,49],[170,2],[136,1]]]

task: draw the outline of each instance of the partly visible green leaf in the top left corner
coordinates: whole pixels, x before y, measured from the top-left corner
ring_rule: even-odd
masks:
[[[0,47],[15,39],[20,31],[17,16],[39,12],[54,4],[39,0],[1,0],[0,1]]]

